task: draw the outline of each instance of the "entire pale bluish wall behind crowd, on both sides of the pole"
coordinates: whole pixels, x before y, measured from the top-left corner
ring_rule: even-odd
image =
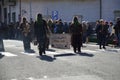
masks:
[[[21,9],[27,11],[22,16],[30,19],[30,0],[21,0]],[[36,19],[38,13],[51,15],[52,11],[59,12],[59,18],[63,21],[71,21],[74,15],[82,15],[83,20],[95,22],[100,18],[99,0],[31,0],[32,18]],[[102,18],[108,21],[114,20],[114,10],[120,10],[120,0],[103,0]],[[17,21],[19,15],[19,2],[13,9],[16,11]]]

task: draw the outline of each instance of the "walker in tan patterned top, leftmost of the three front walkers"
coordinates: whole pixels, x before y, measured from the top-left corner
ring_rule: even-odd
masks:
[[[26,18],[23,18],[23,22],[20,25],[20,30],[22,32],[24,50],[25,50],[25,52],[31,52],[30,25],[27,22]]]

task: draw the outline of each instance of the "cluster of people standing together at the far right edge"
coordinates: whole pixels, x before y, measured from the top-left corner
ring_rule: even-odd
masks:
[[[100,49],[106,49],[106,45],[109,40],[112,40],[112,44],[120,47],[120,19],[117,19],[116,24],[113,22],[107,22],[103,19],[96,22],[97,40]],[[115,40],[115,42],[114,42]]]

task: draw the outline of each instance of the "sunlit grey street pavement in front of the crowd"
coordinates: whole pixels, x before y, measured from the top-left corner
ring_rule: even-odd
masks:
[[[120,49],[96,43],[84,44],[82,53],[51,46],[46,55],[25,53],[22,41],[4,40],[0,52],[0,80],[120,80]]]

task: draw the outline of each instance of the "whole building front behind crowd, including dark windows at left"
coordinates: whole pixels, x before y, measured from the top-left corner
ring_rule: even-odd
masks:
[[[0,0],[0,21],[10,23],[26,17],[35,20],[38,13],[45,19],[71,21],[78,16],[80,21],[95,22],[102,18],[114,21],[120,17],[120,0]]]

